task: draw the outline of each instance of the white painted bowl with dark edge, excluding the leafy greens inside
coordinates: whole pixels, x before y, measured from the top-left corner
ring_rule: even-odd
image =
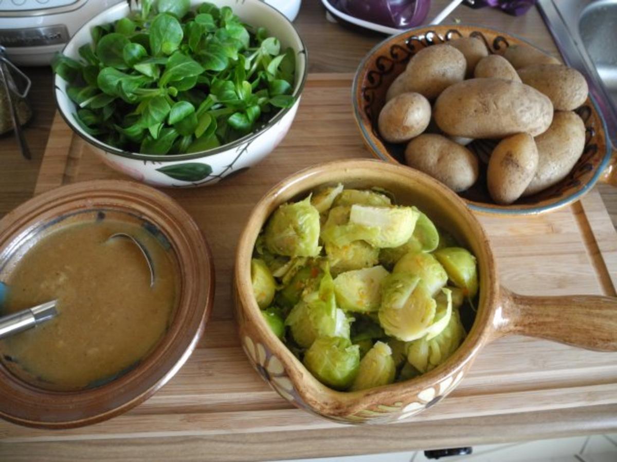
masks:
[[[191,0],[193,6],[202,0]],[[291,47],[296,53],[296,84],[293,95],[296,102],[291,108],[281,109],[265,126],[234,142],[207,151],[179,155],[144,155],[119,150],[89,135],[75,121],[77,108],[67,96],[67,83],[54,77],[54,95],[60,115],[70,128],[94,147],[94,152],[111,168],[136,180],[161,187],[194,187],[215,184],[222,178],[246,171],[261,161],[283,140],[291,127],[300,103],[300,95],[307,78],[307,52],[296,29],[284,15],[260,0],[216,0],[218,7],[230,6],[246,23],[264,26],[278,38],[281,49]],[[90,31],[96,25],[114,22],[126,17],[133,2],[122,2],[87,22],[70,39],[62,51],[80,60],[79,48],[91,43]]]

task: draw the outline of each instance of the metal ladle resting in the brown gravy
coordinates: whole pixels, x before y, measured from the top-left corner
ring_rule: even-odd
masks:
[[[152,257],[148,253],[146,247],[141,242],[136,240],[136,238],[127,233],[112,234],[109,238],[107,238],[107,241],[115,238],[128,239],[139,248],[144,258],[146,259],[148,269],[150,270],[150,287],[154,286],[154,265],[152,264]],[[5,287],[6,286],[4,285],[4,283],[0,282],[0,295],[2,295],[6,290]],[[0,301],[1,299],[2,297],[0,296]],[[27,308],[25,310],[20,310],[16,313],[1,317],[0,339],[31,329],[39,325],[40,323],[56,317],[56,315],[58,314],[56,310],[56,304],[57,300],[53,300],[51,302],[46,302],[41,305]]]

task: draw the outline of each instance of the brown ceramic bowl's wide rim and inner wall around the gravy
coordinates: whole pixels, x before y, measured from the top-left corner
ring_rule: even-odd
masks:
[[[169,246],[180,296],[173,318],[154,349],[129,371],[96,387],[50,391],[12,373],[0,358],[0,416],[40,428],[73,428],[109,419],[135,407],[186,362],[201,337],[214,294],[210,249],[188,213],[164,193],[133,182],[89,181],[41,194],[0,220],[0,280],[24,248],[50,230],[97,219],[136,222]]]

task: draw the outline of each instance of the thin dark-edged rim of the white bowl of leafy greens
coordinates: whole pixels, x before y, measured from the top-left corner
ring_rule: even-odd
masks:
[[[205,0],[204,0],[205,1]],[[242,2],[244,3],[244,1]],[[234,140],[230,143],[227,144],[223,144],[217,148],[212,148],[212,149],[208,149],[205,151],[199,151],[199,152],[191,152],[191,153],[184,153],[184,154],[171,154],[171,155],[154,155],[154,154],[144,154],[144,153],[136,153],[136,152],[130,152],[130,151],[125,151],[122,149],[118,149],[115,148],[113,146],[110,146],[108,144],[105,144],[103,142],[101,142],[100,140],[96,139],[93,136],[88,135],[87,133],[83,132],[81,130],[81,128],[75,124],[71,119],[71,117],[67,116],[64,111],[62,110],[62,108],[60,107],[59,101],[58,101],[58,92],[61,92],[64,97],[66,99],[68,99],[68,95],[65,94],[64,91],[62,91],[59,86],[57,85],[57,79],[60,79],[60,76],[55,74],[54,75],[54,81],[52,82],[52,85],[54,86],[53,88],[53,93],[54,93],[54,101],[56,102],[56,108],[58,110],[58,113],[60,114],[60,116],[62,116],[62,119],[64,119],[65,123],[72,129],[73,132],[77,133],[78,136],[81,137],[81,139],[85,140],[86,142],[88,142],[89,144],[94,145],[95,147],[103,150],[104,152],[110,153],[110,154],[115,154],[118,156],[122,156],[122,157],[126,157],[126,158],[130,158],[130,159],[135,159],[135,160],[143,160],[143,161],[147,161],[147,160],[151,160],[151,161],[157,161],[157,162],[175,162],[175,161],[181,161],[181,160],[193,160],[193,159],[199,159],[202,158],[204,156],[213,156],[213,155],[217,155],[220,153],[225,153],[228,150],[231,150],[233,148],[236,148],[242,144],[245,144],[247,142],[252,142],[252,140],[256,139],[257,137],[259,137],[260,135],[262,135],[263,133],[267,132],[270,128],[272,128],[273,126],[276,125],[276,123],[278,123],[281,119],[283,119],[283,117],[285,115],[287,115],[287,113],[292,110],[292,108],[296,107],[297,103],[300,100],[300,97],[302,95],[302,91],[304,90],[304,85],[306,84],[307,78],[309,76],[309,51],[306,47],[306,45],[304,44],[304,41],[302,40],[302,36],[300,36],[300,34],[298,33],[296,26],[294,26],[294,24],[283,14],[281,13],[279,10],[277,10],[275,7],[267,4],[266,2],[262,2],[259,1],[258,2],[260,5],[263,5],[264,7],[267,7],[268,9],[270,9],[272,12],[275,12],[275,14],[279,15],[280,18],[279,20],[283,20],[284,22],[287,22],[292,30],[294,31],[294,33],[296,34],[296,38],[298,39],[298,41],[300,42],[300,51],[296,52],[296,59],[299,55],[304,55],[304,69],[302,71],[302,76],[300,77],[299,80],[296,81],[296,88],[294,89],[294,92],[291,94],[296,100],[294,101],[294,103],[287,108],[280,108],[280,110],[275,114],[275,116],[273,116],[273,118],[271,118],[270,120],[267,121],[267,123],[263,124],[262,126],[260,126],[259,128],[255,129],[254,131],[252,131],[251,133],[237,139]],[[128,1],[128,7],[129,10],[132,12],[133,11],[133,2],[131,2],[130,0]],[[91,18],[88,22],[86,22],[83,26],[81,26],[76,32],[75,34],[73,34],[73,37],[67,42],[67,44],[65,44],[65,46],[62,48],[62,51],[60,53],[64,54],[65,50],[67,49],[67,47],[72,43],[73,39],[77,36],[77,34],[79,34],[83,29],[85,28],[91,28],[93,26],[94,21],[96,21],[99,17],[103,16],[103,15],[107,15],[110,14],[110,12],[112,12],[115,9],[123,9],[126,7],[125,2],[121,2],[118,3],[117,5],[114,5],[104,11],[102,11],[101,13],[97,14],[96,16],[94,16],[93,18]]]

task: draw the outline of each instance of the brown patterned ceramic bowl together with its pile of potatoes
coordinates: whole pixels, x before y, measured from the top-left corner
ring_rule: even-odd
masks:
[[[568,205],[617,154],[587,81],[523,39],[424,26],[386,39],[354,79],[355,118],[382,160],[427,173],[491,214]]]

